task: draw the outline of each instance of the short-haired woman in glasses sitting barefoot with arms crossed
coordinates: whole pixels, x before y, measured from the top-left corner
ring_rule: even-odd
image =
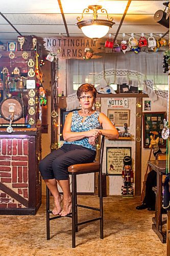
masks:
[[[115,126],[107,116],[92,109],[96,93],[92,84],[84,83],[79,87],[77,96],[82,109],[67,115],[63,129],[63,146],[52,151],[39,164],[42,179],[54,197],[54,215],[63,217],[71,211],[68,166],[93,162],[99,135],[105,135],[109,139],[118,138]],[[63,191],[63,197],[59,194],[57,184]]]

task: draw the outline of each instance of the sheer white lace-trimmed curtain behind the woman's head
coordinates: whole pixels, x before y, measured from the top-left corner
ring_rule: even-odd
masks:
[[[79,107],[74,84],[88,82],[98,88],[109,84],[123,84],[140,87],[153,100],[161,99],[166,104],[167,92],[158,90],[167,84],[168,75],[163,73],[163,52],[134,52],[103,54],[101,58],[80,60],[68,59],[67,70],[67,110]]]

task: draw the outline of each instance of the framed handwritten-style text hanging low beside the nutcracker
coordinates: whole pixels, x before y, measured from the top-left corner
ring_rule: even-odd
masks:
[[[131,147],[106,147],[106,174],[122,175],[125,156],[131,157]]]

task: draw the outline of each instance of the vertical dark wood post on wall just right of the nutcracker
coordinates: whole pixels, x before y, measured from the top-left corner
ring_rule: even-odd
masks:
[[[141,194],[142,98],[136,98],[135,195]],[[140,141],[138,140],[140,138]]]

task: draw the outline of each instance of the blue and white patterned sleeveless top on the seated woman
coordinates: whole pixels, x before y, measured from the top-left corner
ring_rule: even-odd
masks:
[[[102,129],[102,126],[98,120],[100,112],[95,111],[90,116],[87,116],[84,122],[82,122],[83,117],[79,115],[78,111],[72,112],[72,121],[71,121],[71,132],[85,132],[90,131],[91,129]],[[91,145],[88,142],[88,138],[83,138],[75,141],[65,141],[64,144],[76,144],[89,148],[90,150],[96,151],[95,146]]]

